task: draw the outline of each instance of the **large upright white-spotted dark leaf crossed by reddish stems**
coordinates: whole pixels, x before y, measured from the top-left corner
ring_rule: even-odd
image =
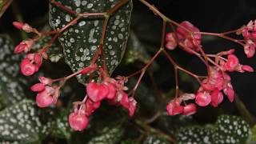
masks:
[[[62,5],[68,6],[78,13],[101,13],[109,10],[119,0],[94,1],[94,0],[58,0]],[[106,66],[110,74],[122,60],[126,50],[126,42],[130,30],[130,14],[132,2],[122,6],[111,17],[106,28],[104,52]],[[60,29],[74,19],[73,15],[50,3],[50,26]],[[71,70],[78,71],[89,66],[94,58],[102,36],[103,18],[82,18],[70,26],[59,37],[59,42],[64,47],[64,57]],[[78,76],[78,81],[86,84],[88,76]]]

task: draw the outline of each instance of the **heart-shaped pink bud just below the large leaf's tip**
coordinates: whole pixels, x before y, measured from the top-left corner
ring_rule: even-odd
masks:
[[[90,82],[86,86],[86,92],[88,94],[88,97],[93,102],[99,102],[102,101],[102,99],[106,98],[106,95],[109,93],[109,90],[105,84]]]

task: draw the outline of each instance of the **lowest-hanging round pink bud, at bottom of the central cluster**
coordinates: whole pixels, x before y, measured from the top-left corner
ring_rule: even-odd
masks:
[[[71,113],[69,116],[69,123],[73,130],[82,131],[88,125],[88,118],[84,114]]]

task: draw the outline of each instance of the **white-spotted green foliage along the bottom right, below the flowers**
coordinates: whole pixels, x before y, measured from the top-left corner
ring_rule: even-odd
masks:
[[[179,143],[245,143],[250,127],[237,116],[221,115],[212,127],[182,128],[177,134]]]

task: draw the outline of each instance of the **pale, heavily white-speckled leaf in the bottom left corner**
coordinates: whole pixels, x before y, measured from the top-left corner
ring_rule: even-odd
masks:
[[[0,139],[22,143],[37,142],[48,134],[50,125],[39,118],[34,102],[22,100],[0,112]]]

